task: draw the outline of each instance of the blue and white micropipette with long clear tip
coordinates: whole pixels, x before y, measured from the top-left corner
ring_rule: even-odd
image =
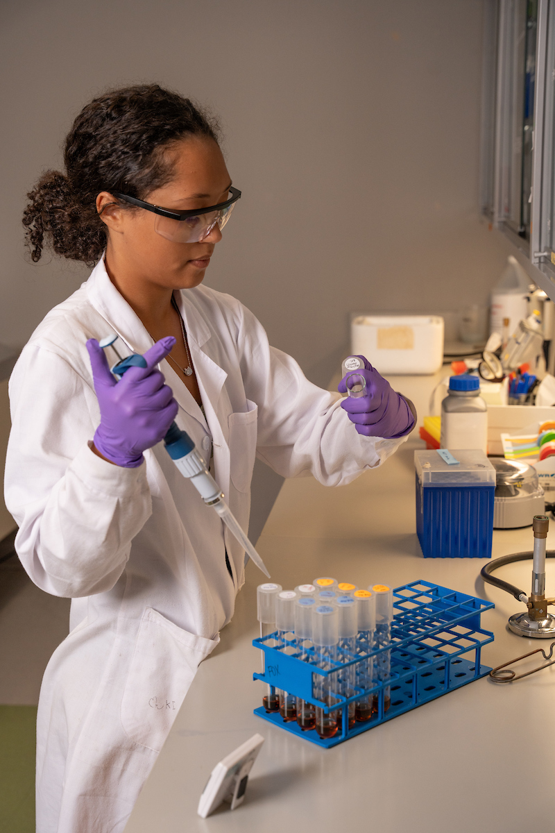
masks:
[[[102,350],[111,347],[116,353],[119,361],[114,367],[111,367],[111,372],[119,380],[130,367],[146,367],[146,361],[140,353],[131,353],[131,356],[121,359],[114,347],[116,339],[117,336],[112,334],[107,338],[103,338],[98,344],[102,347]],[[218,486],[211,476],[210,471],[206,468],[205,459],[199,451],[196,451],[195,443],[191,440],[191,437],[186,431],[181,431],[181,428],[178,428],[175,422],[172,422],[164,437],[164,445],[171,459],[179,471],[181,471],[181,474],[187,477],[193,486],[195,486],[196,491],[199,492],[206,506],[211,506],[218,513],[221,520],[224,521],[225,526],[235,536],[236,540],[239,541],[240,546],[243,547],[247,555],[255,562],[259,570],[270,578],[270,573],[266,570],[264,561],[262,561],[255,547],[252,546],[247,536],[245,536],[245,532],[230,510],[230,507],[225,503],[223,491],[221,491],[220,486]]]

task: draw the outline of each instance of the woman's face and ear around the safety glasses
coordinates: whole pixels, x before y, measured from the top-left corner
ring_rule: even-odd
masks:
[[[211,138],[189,137],[168,151],[173,159],[174,177],[167,185],[144,197],[172,211],[201,209],[229,198],[230,175],[221,150]],[[104,193],[104,192],[103,192]],[[106,194],[97,197],[97,210],[111,202]],[[108,271],[125,271],[141,282],[168,289],[198,286],[210,264],[221,231],[216,225],[202,242],[181,243],[166,240],[155,232],[156,214],[143,208],[128,210],[107,206],[102,219],[109,229]]]

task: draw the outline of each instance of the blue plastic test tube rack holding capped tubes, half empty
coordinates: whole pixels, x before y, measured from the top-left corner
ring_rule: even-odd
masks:
[[[486,676],[491,668],[481,664],[480,655],[482,647],[493,642],[493,633],[484,631],[480,626],[480,615],[492,608],[493,602],[449,590],[429,581],[412,581],[394,590],[394,621],[389,644],[369,654],[337,662],[330,671],[316,667],[318,656],[314,648],[310,649],[309,661],[303,661],[299,659],[300,653],[285,654],[280,648],[266,645],[266,642],[275,640],[276,634],[255,639],[252,644],[265,654],[265,672],[253,674],[253,679],[264,681],[320,706],[326,713],[339,707],[343,717],[338,733],[322,739],[314,729],[302,731],[296,721],[284,721],[279,712],[266,712],[260,706],[255,709],[255,715],[317,746],[325,749],[337,746],[361,732],[393,720],[405,711]],[[363,662],[369,656],[378,656],[382,651],[391,652],[391,673],[388,680],[376,682],[367,690],[355,686],[355,694],[349,698],[338,694],[333,706],[326,706],[315,699],[313,675],[328,676]],[[387,711],[384,710],[386,688],[390,690]],[[377,697],[377,711],[369,721],[357,722],[349,729],[347,706],[370,694],[374,699]]]

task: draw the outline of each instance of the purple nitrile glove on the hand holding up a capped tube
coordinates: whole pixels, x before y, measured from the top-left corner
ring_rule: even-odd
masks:
[[[363,436],[381,436],[394,440],[409,434],[414,428],[415,419],[406,400],[394,392],[393,387],[379,372],[372,367],[368,359],[359,356],[364,362],[364,370],[354,371],[364,377],[366,394],[364,397],[347,397],[341,407],[347,412],[349,420]],[[347,374],[349,376],[349,374]],[[345,376],[339,382],[339,393],[346,393]]]

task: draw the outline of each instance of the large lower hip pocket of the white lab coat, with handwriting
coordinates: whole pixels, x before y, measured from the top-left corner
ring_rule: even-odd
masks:
[[[126,735],[160,751],[201,661],[220,637],[195,636],[147,607],[121,700]]]

